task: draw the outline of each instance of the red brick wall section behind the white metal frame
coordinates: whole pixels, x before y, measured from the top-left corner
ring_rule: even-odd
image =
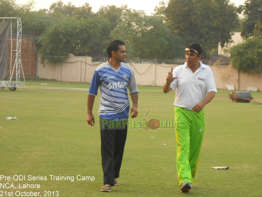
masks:
[[[35,65],[36,65],[36,54],[34,50],[36,48],[36,44],[33,44],[32,40],[36,36],[32,35],[22,35],[21,40],[21,63],[24,71],[25,77],[34,77],[35,76]],[[13,52],[12,52],[12,69],[15,64],[16,59],[16,35],[12,35],[12,45],[13,45]],[[8,41],[8,69],[7,73],[10,75],[10,57],[11,57],[11,36],[9,36]],[[13,72],[13,76],[15,75],[15,68]],[[22,77],[22,69],[20,69],[20,78]]]

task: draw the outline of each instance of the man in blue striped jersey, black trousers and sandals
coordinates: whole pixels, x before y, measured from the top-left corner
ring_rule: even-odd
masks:
[[[108,44],[107,54],[110,59],[95,69],[88,92],[87,122],[94,126],[92,109],[100,86],[98,114],[104,172],[104,186],[101,192],[110,192],[111,186],[120,186],[116,178],[119,177],[127,135],[130,109],[127,88],[133,102],[130,115],[132,118],[138,115],[138,89],[133,69],[123,63],[126,58],[124,44],[121,40],[114,40]]]

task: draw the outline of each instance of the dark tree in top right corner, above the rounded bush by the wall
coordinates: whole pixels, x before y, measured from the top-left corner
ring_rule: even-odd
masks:
[[[253,36],[254,31],[261,32],[261,26],[258,28],[259,23],[262,21],[262,0],[246,0],[244,5],[240,5],[237,9],[238,13],[244,12],[245,18],[242,22],[243,38]]]

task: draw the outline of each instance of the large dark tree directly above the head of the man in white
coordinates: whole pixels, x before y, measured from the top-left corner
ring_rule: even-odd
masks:
[[[167,26],[186,44],[199,43],[207,52],[232,42],[238,15],[229,0],[170,0],[165,9]]]

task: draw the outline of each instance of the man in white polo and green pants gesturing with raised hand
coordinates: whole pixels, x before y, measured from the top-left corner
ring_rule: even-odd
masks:
[[[217,92],[215,79],[209,66],[202,64],[202,48],[190,44],[185,49],[186,63],[168,72],[163,92],[174,91],[175,119],[181,119],[176,128],[177,176],[182,192],[192,189],[202,145],[205,116],[203,108]]]

